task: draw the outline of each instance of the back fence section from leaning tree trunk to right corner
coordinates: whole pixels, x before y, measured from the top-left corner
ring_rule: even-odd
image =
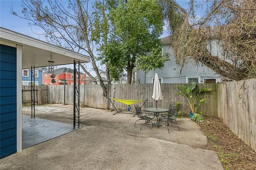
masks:
[[[178,86],[186,84],[161,84],[163,99],[158,101],[158,107],[168,108],[170,102],[180,102],[180,110],[185,113],[190,113],[190,108],[185,105],[186,99],[182,95],[175,95],[178,91]],[[156,102],[152,99],[154,84],[114,84],[111,85],[110,96],[116,99],[148,99],[153,101],[153,106],[156,106]],[[217,84],[200,84],[197,88],[211,88],[210,93],[204,93],[201,99],[206,99],[205,105],[200,107],[205,115],[217,115]],[[138,103],[142,105],[143,102]],[[118,109],[126,109],[127,105],[114,101],[114,105]],[[134,106],[131,106],[132,110]],[[110,105],[110,108],[112,106]]]

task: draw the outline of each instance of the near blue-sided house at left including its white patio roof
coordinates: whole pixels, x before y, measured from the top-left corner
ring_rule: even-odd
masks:
[[[90,61],[89,56],[0,27],[0,158],[22,151],[22,69],[45,67],[50,55],[56,65]]]

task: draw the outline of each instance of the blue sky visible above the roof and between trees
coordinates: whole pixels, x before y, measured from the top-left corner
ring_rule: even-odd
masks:
[[[186,4],[189,2],[189,0],[177,0],[177,2],[186,8]],[[43,32],[42,28],[39,26],[29,26],[27,20],[11,14],[12,8],[18,15],[23,16],[21,5],[21,0],[0,0],[0,27],[24,34],[26,36],[30,36],[32,38],[36,38],[38,40],[46,41],[44,36],[40,35]],[[165,26],[164,34],[161,36],[161,38],[168,35],[167,27]],[[73,65],[58,66],[58,68],[60,67],[68,67],[73,69]],[[96,73],[94,73],[92,69],[91,63],[87,63],[86,67],[93,76],[96,76]],[[99,67],[99,69],[101,68]]]

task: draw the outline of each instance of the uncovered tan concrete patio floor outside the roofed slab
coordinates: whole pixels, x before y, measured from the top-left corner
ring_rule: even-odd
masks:
[[[23,108],[30,115],[30,108]],[[57,138],[1,159],[0,169],[223,169],[207,150],[207,138],[187,118],[177,126],[152,128],[134,122],[133,114],[80,108],[80,125]],[[73,106],[36,106],[36,117],[72,125]]]

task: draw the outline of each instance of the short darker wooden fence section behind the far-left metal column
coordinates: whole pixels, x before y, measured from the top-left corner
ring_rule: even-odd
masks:
[[[48,103],[48,86],[35,87],[35,105]],[[31,106],[31,86],[22,86],[22,106]]]

